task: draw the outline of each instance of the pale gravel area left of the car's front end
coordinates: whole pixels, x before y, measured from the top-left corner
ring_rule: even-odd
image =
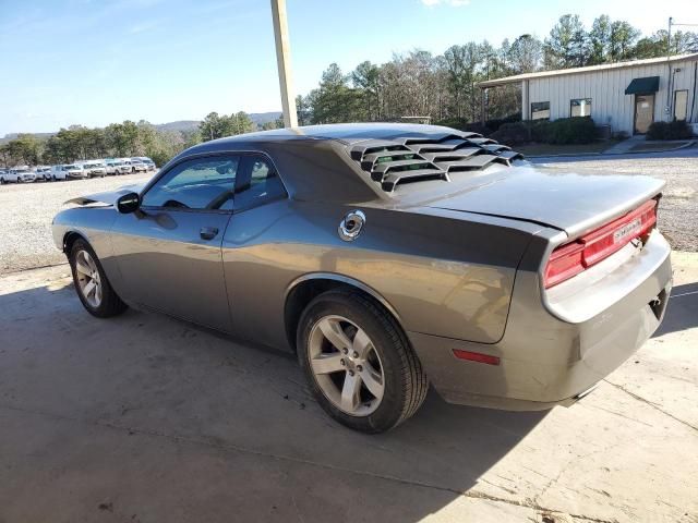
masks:
[[[151,172],[0,186],[0,273],[65,262],[53,245],[51,220],[67,199],[142,183],[152,175]]]

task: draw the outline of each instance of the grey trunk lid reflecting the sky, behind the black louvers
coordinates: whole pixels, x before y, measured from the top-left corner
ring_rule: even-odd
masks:
[[[664,184],[650,177],[516,167],[502,169],[483,178],[482,183],[428,206],[530,221],[573,238],[657,196]]]

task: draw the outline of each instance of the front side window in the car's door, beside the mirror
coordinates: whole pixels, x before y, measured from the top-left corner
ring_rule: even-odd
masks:
[[[207,157],[172,168],[143,196],[144,207],[231,210],[239,157]]]

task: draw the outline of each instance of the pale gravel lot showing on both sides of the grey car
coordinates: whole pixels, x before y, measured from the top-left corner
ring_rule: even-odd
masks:
[[[625,157],[540,158],[554,170],[579,173],[648,174],[666,180],[659,227],[678,251],[698,251],[698,148]],[[67,199],[145,182],[153,173],[0,187],[0,273],[61,264],[51,220]]]

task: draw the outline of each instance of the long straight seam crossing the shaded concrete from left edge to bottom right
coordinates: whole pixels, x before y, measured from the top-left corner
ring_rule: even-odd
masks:
[[[570,518],[577,519],[577,520],[583,520],[583,521],[588,521],[591,523],[617,523],[617,520],[604,520],[604,519],[600,519],[600,518],[593,518],[590,515],[585,515],[585,514],[573,514],[573,513],[567,513],[561,510],[555,510],[555,509],[551,509],[547,507],[541,507],[540,504],[538,504],[535,502],[535,500],[531,500],[531,499],[524,499],[524,500],[517,500],[517,499],[507,499],[507,498],[501,498],[498,496],[492,496],[485,492],[481,492],[478,490],[459,490],[457,488],[453,488],[453,487],[448,487],[448,486],[443,486],[443,485],[436,485],[436,484],[432,484],[432,483],[426,483],[426,482],[419,482],[419,481],[414,481],[414,479],[405,479],[401,477],[397,477],[397,476],[393,476],[390,474],[378,474],[378,473],[374,473],[374,472],[370,472],[370,471],[361,471],[361,470],[357,470],[357,469],[349,469],[349,467],[345,467],[345,466],[339,466],[339,465],[333,465],[329,463],[321,463],[321,462],[316,462],[316,461],[312,461],[312,460],[306,460],[303,458],[296,458],[292,455],[286,455],[286,454],[279,454],[279,453],[275,453],[275,452],[264,452],[261,450],[255,450],[255,449],[250,449],[246,447],[242,447],[239,445],[234,445],[234,443],[221,443],[221,442],[214,442],[214,441],[209,441],[206,439],[200,439],[200,438],[193,438],[190,436],[180,436],[178,434],[168,434],[168,433],[163,433],[159,430],[153,430],[153,429],[147,429],[147,428],[136,428],[136,427],[129,427],[129,426],[124,426],[124,425],[119,425],[117,423],[113,422],[108,422],[108,421],[104,421],[104,419],[85,419],[85,418],[81,418],[81,417],[76,417],[76,416],[70,416],[70,415],[65,415],[65,414],[57,414],[57,413],[52,413],[52,412],[46,412],[46,411],[41,411],[41,410],[37,410],[37,409],[26,409],[26,408],[22,408],[22,406],[16,406],[16,405],[7,405],[7,404],[0,404],[0,409],[4,409],[7,411],[14,411],[14,412],[21,412],[21,413],[25,413],[25,414],[32,414],[32,415],[38,415],[38,416],[44,416],[44,417],[50,417],[52,419],[59,419],[59,421],[65,421],[65,422],[72,422],[72,423],[79,423],[82,425],[91,425],[91,426],[95,426],[95,427],[100,427],[100,428],[109,428],[111,430],[117,430],[119,433],[124,433],[129,436],[131,435],[140,435],[140,436],[151,436],[151,437],[156,437],[156,438],[163,438],[163,439],[167,439],[170,441],[174,441],[174,442],[182,442],[182,443],[189,443],[189,445],[198,445],[202,447],[207,447],[207,448],[213,448],[216,450],[222,450],[222,451],[232,451],[232,452],[239,452],[242,454],[250,454],[250,455],[257,455],[261,458],[267,458],[267,459],[272,459],[272,460],[277,460],[277,461],[287,461],[287,462],[291,462],[291,463],[299,463],[299,464],[303,464],[303,465],[308,465],[308,466],[316,466],[320,469],[326,469],[329,471],[334,471],[334,472],[345,472],[345,473],[349,473],[349,474],[356,474],[359,476],[369,476],[369,477],[373,477],[375,479],[383,479],[383,481],[387,481],[387,482],[393,482],[393,483],[399,483],[401,485],[409,485],[412,487],[420,487],[420,488],[429,488],[429,489],[433,489],[433,490],[440,490],[443,492],[450,492],[450,494],[455,494],[457,496],[462,496],[465,498],[470,498],[470,499],[483,499],[486,501],[492,501],[492,502],[498,502],[498,503],[505,503],[505,504],[509,504],[509,506],[514,506],[514,507],[520,507],[520,508],[526,508],[526,509],[531,509],[531,510],[535,510],[539,511],[541,513],[558,513],[558,514],[567,514]]]

